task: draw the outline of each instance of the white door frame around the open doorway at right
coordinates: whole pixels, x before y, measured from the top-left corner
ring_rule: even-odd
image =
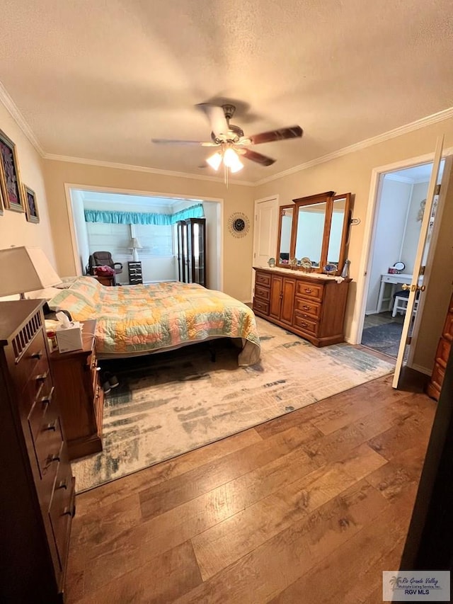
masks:
[[[360,344],[360,341],[362,340],[362,331],[363,324],[365,321],[365,310],[367,306],[367,296],[369,290],[369,269],[371,268],[372,250],[374,247],[374,234],[376,231],[377,203],[382,187],[381,177],[387,172],[394,172],[407,168],[413,168],[414,166],[418,166],[420,164],[430,164],[432,163],[432,161],[434,161],[434,155],[435,153],[434,151],[432,151],[428,154],[424,154],[417,157],[411,157],[409,159],[401,159],[400,161],[395,161],[391,164],[386,164],[384,166],[377,166],[376,168],[372,169],[369,186],[367,215],[365,217],[364,225],[362,253],[360,255],[360,264],[357,273],[357,304],[355,304],[354,312],[352,314],[351,331],[350,337],[348,338],[348,342],[351,344]],[[435,224],[440,224],[440,219],[442,217],[442,208],[444,205],[445,193],[447,191],[449,173],[452,167],[452,155],[453,147],[446,148],[442,152],[442,159],[445,159],[445,169],[442,174],[442,187],[439,197],[439,204],[437,206],[437,211],[440,212],[439,220],[436,220]],[[437,243],[437,235],[438,228],[434,228],[431,237],[430,250],[428,253],[428,261],[430,258],[432,258],[432,253],[434,253],[435,246]],[[427,273],[429,274],[429,271],[427,271]],[[421,317],[421,314],[423,313],[423,305],[419,308]],[[417,333],[418,329],[413,334],[414,341],[415,337],[417,336]],[[409,361],[411,361],[412,355],[413,350],[410,351]]]

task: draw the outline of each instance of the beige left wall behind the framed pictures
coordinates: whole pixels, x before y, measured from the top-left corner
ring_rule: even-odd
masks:
[[[1,103],[0,130],[16,143],[22,181],[35,191],[40,213],[39,224],[34,224],[27,222],[25,214],[4,210],[3,216],[0,216],[0,248],[25,244],[38,246],[45,251],[50,262],[57,268],[40,155]]]

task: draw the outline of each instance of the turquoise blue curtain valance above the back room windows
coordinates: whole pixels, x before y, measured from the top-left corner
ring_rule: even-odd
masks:
[[[203,205],[197,203],[175,214],[151,212],[115,212],[110,210],[85,210],[85,222],[107,222],[108,224],[176,224],[186,218],[203,218]]]

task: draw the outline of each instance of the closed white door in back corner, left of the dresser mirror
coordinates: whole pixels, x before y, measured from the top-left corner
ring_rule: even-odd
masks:
[[[278,198],[265,198],[255,201],[253,228],[253,266],[268,266],[269,258],[277,253]],[[252,298],[253,284],[252,278]]]

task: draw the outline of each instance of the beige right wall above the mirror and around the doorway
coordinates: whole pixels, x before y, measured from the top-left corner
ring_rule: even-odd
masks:
[[[323,164],[290,174],[289,176],[284,176],[275,181],[270,181],[256,187],[254,190],[256,199],[270,195],[280,195],[280,205],[287,205],[294,198],[313,195],[325,190],[335,190],[337,193],[348,193],[350,191],[355,195],[353,217],[360,218],[361,223],[351,228],[348,251],[348,258],[351,261],[350,276],[353,279],[348,297],[348,309],[345,321],[345,331],[348,338],[350,338],[353,327],[355,327],[353,325],[353,318],[358,293],[357,279],[360,277],[360,261],[364,254],[365,223],[372,170],[397,161],[416,158],[425,154],[433,154],[437,136],[442,134],[445,135],[444,147],[453,147],[453,120],[437,122],[385,142],[374,144],[372,147],[367,147],[338,157],[337,159],[326,161]],[[449,196],[448,203],[453,203],[452,196]],[[447,237],[445,233],[443,235]],[[448,263],[452,263],[451,254],[447,261]],[[445,270],[443,273],[440,271],[440,273],[440,275],[435,275],[440,280],[440,283],[436,287],[439,295],[442,292],[443,298],[445,295],[448,295],[451,289],[451,279],[448,280],[445,276]],[[426,363],[426,365],[423,366],[427,370],[432,367],[432,359],[435,354],[435,346],[433,349],[432,341],[437,341],[436,338],[438,338],[442,329],[442,326],[439,326],[438,323],[442,323],[443,319],[442,317],[435,317],[435,314],[432,313],[433,322],[430,326],[430,333],[435,335],[430,338],[429,343],[423,341],[423,338],[420,337],[417,347],[425,349],[423,363]],[[425,331],[423,333],[426,334]]]

